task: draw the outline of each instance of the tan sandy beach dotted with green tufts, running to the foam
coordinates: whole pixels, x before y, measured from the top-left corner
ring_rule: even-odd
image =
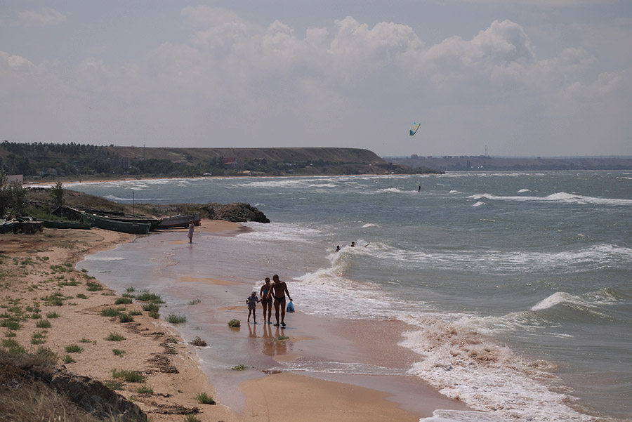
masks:
[[[203,220],[195,230],[234,235],[246,229],[235,223]],[[186,229],[173,231],[183,232],[183,239],[173,242],[188,242]],[[6,308],[18,306],[22,312],[41,315],[41,319],[25,319],[22,327],[14,331],[15,340],[31,351],[50,348],[60,361],[66,360],[64,365],[70,371],[106,383],[118,381],[113,379],[113,370],[141,371],[145,383],[123,382],[118,392],[136,402],[152,421],[182,421],[186,413],[197,413],[201,421],[225,422],[291,418],[419,421],[421,417],[432,416],[435,409],[466,409],[461,402],[443,397],[412,376],[315,376],[309,372],[304,375],[262,370],[246,371],[249,374],[235,384],[236,378],[214,376],[213,369],[203,371],[196,348],[183,341],[173,326],[162,318],[150,317],[137,301],[117,303],[121,298],[98,283],[98,275],[74,269],[84,256],[133,239],[132,235],[100,229],[46,229],[36,235],[2,235],[0,303]],[[402,322],[341,322],[296,312],[292,315],[292,325],[296,327],[284,332],[289,339],[276,341],[279,330],[261,324],[261,308],[258,308],[259,324],[245,324],[246,306],[240,305],[243,284],[187,275],[177,282],[205,283],[225,289],[228,299],[209,313],[209,325],[216,324],[225,331],[226,320],[241,319],[241,329],[232,340],[225,341],[235,344],[249,341],[252,350],[237,350],[235,346],[235,355],[256,353],[251,361],[261,359],[262,368],[270,358],[287,362],[310,355],[323,360],[333,356],[376,365],[386,359],[390,366],[403,370],[420,358],[397,345],[397,338],[406,329]],[[101,312],[107,308],[131,312],[133,322],[102,316]],[[50,322],[50,327],[37,327],[40,320]],[[124,339],[107,340],[112,334]],[[374,341],[367,341],[367,337]],[[145,389],[139,390],[141,386]],[[200,393],[214,397],[217,405],[200,404],[196,400]]]

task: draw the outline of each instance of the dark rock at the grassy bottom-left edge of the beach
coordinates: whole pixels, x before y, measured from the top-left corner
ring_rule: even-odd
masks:
[[[51,385],[98,418],[117,416],[121,422],[147,422],[147,415],[140,407],[88,376],[60,368],[53,373]]]

